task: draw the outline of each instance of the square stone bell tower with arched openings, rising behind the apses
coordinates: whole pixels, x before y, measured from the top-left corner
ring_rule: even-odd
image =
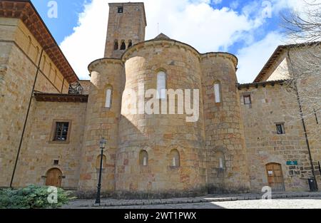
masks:
[[[127,48],[145,41],[146,14],[142,2],[109,4],[106,58],[121,58]]]

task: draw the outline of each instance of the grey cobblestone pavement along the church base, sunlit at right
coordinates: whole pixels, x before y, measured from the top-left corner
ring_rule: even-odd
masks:
[[[76,199],[64,206],[65,209],[321,209],[321,192],[274,193],[272,200],[262,200],[260,194],[208,195],[204,197],[153,199],[153,200],[116,200],[102,199],[97,207],[93,199]]]

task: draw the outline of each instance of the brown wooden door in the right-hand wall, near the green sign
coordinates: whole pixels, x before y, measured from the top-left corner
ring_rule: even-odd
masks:
[[[266,165],[267,181],[272,191],[285,191],[284,179],[282,174],[282,167],[278,163],[269,163]]]

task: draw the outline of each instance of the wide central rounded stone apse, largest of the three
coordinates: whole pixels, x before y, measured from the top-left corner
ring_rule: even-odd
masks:
[[[167,89],[200,90],[203,107],[201,70],[198,53],[189,46],[173,46],[171,41],[142,43],[139,50],[126,53],[126,90],[138,92],[156,89],[159,71],[166,73]],[[186,95],[185,95],[186,96]],[[141,98],[145,103],[156,95]],[[123,96],[123,106],[131,104]],[[165,100],[168,103],[170,99]],[[177,99],[175,99],[177,100]],[[161,109],[163,100],[154,99],[153,108]],[[175,107],[177,109],[177,106]],[[158,110],[159,111],[159,110]],[[116,190],[124,192],[190,192],[205,186],[205,153],[203,150],[203,110],[195,123],[187,123],[185,114],[124,113],[119,125],[116,157]],[[140,152],[148,152],[148,165],[139,162]],[[177,150],[180,167],[171,167],[170,152]]]

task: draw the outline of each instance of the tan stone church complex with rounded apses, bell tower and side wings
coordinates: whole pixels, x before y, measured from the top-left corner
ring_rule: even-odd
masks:
[[[309,191],[309,179],[321,185],[321,115],[293,118],[305,107],[285,85],[295,45],[279,46],[253,83],[239,84],[234,55],[199,53],[163,33],[145,41],[146,26],[143,3],[109,4],[105,56],[88,65],[91,80],[81,81],[31,1],[0,1],[0,187],[95,192],[101,138],[103,192]],[[123,113],[130,104],[124,92],[140,84],[198,89],[198,120]]]

